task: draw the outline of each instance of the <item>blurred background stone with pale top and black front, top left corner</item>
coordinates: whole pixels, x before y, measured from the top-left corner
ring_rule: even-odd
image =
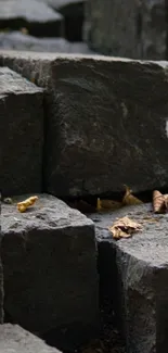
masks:
[[[0,28],[20,29],[26,27],[30,35],[38,37],[64,36],[64,21],[42,1],[1,0]]]

